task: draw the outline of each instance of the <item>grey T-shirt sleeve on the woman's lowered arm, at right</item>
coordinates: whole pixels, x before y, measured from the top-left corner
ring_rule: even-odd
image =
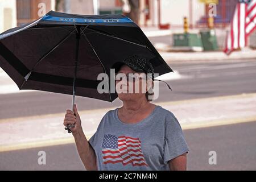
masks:
[[[164,164],[179,155],[187,153],[189,148],[185,141],[183,131],[174,114],[170,112],[166,118],[166,128],[164,136]]]

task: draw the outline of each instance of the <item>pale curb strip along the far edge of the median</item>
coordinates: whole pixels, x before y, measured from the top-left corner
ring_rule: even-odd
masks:
[[[256,97],[256,93],[248,93],[248,94],[238,94],[233,96],[220,96],[220,97],[208,97],[208,98],[196,98],[191,100],[181,100],[181,101],[169,101],[169,102],[154,102],[157,105],[179,105],[179,104],[190,104],[190,103],[199,103],[199,102],[208,102],[208,101],[218,101],[218,100],[230,100],[234,98],[250,98]],[[78,108],[79,109],[79,108]],[[108,107],[103,109],[93,109],[93,110],[81,110],[79,114],[91,114],[113,110],[115,107]],[[32,119],[43,119],[43,118],[51,118],[51,117],[63,117],[64,118],[65,111],[63,113],[55,113],[55,114],[44,114],[44,115],[35,115],[28,117],[17,117],[17,118],[6,118],[0,119],[0,123],[2,122],[16,122],[16,121],[29,121]]]

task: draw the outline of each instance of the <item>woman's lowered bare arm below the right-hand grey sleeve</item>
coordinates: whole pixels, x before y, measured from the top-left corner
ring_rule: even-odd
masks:
[[[187,170],[187,153],[177,156],[168,161],[170,171],[186,171]]]

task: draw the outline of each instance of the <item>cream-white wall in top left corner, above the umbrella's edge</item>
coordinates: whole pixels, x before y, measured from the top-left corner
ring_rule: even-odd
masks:
[[[16,25],[16,0],[0,0],[0,33]]]

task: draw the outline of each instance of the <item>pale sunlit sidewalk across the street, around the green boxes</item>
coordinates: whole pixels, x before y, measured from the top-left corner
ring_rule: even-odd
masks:
[[[172,36],[177,32],[183,32],[183,28],[171,28],[169,30],[159,30],[158,27],[141,27],[144,34],[151,40],[151,43],[159,51],[160,55],[166,61],[220,61],[220,60],[238,60],[238,59],[256,59],[256,50],[245,48],[242,51],[234,51],[227,56],[222,51],[209,51],[209,52],[173,52],[170,43],[161,42],[162,39],[154,40],[152,38],[160,38],[162,36]],[[190,32],[198,33],[200,29],[194,28]],[[216,29],[218,32],[218,42],[225,39],[225,34],[221,30]],[[223,40],[222,40],[223,41]],[[221,44],[222,45],[222,44]]]

